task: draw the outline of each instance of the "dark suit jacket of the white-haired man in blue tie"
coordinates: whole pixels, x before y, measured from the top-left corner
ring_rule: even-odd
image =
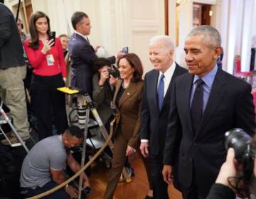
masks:
[[[171,85],[178,75],[182,75],[185,72],[187,72],[185,68],[181,68],[181,66],[176,64],[176,69],[174,70],[174,75],[171,78],[171,82],[164,97],[161,110],[159,110],[157,99],[159,71],[151,70],[145,75],[141,112],[141,139],[149,140],[150,154],[154,156],[161,156],[162,158],[164,155],[165,135],[168,124],[167,118],[172,92]]]

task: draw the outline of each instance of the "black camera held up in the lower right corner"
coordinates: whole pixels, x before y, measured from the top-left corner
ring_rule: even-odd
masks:
[[[250,184],[255,159],[252,137],[242,129],[231,129],[225,133],[225,148],[230,147],[235,151],[235,159],[242,163],[242,181],[247,185]]]

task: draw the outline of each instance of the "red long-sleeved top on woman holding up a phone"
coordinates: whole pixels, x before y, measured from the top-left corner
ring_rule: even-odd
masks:
[[[39,41],[39,48],[36,50],[29,46],[30,41],[30,38],[26,39],[23,45],[28,57],[28,61],[34,69],[33,73],[35,75],[52,76],[61,72],[63,77],[67,77],[67,69],[64,60],[63,49],[59,38],[55,38],[55,45],[48,51],[48,53],[46,53],[46,55],[41,53],[43,48],[42,41]],[[46,56],[50,54],[53,55],[54,65],[48,66]]]

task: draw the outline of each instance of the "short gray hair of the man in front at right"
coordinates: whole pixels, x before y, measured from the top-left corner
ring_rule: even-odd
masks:
[[[193,30],[188,34],[189,36],[204,36],[203,43],[210,47],[215,47],[216,45],[221,45],[221,36],[216,28],[213,26],[203,25],[193,28]]]

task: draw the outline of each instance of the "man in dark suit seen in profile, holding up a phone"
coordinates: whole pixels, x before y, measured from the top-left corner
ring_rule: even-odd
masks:
[[[92,96],[92,65],[97,58],[95,49],[90,45],[87,38],[90,35],[90,18],[83,12],[75,12],[71,18],[75,33],[68,41],[68,53],[70,55],[71,65],[71,86],[88,92]],[[117,58],[122,53],[117,53]],[[108,58],[110,63],[115,63],[115,56]]]

